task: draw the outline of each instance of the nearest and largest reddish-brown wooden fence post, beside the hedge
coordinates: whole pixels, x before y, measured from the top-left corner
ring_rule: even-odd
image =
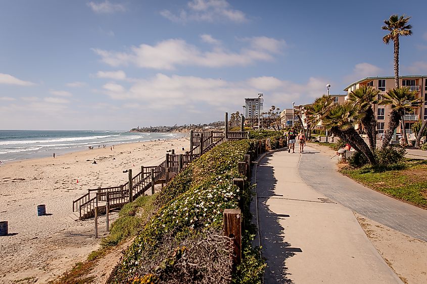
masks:
[[[233,264],[238,265],[242,260],[242,213],[240,209],[224,209],[224,236],[232,238]]]

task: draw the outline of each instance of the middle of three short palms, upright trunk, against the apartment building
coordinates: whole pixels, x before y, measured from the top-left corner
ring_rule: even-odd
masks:
[[[379,92],[379,90],[371,86],[361,86],[348,95],[348,100],[358,105],[361,113],[365,113],[361,123],[368,135],[369,147],[372,150],[374,150],[376,146],[376,120],[372,104],[377,103]]]

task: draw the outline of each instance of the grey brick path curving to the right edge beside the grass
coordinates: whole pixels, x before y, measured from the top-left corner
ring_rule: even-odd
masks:
[[[294,154],[297,155],[297,154]],[[306,147],[299,174],[314,190],[366,217],[427,242],[427,210],[366,188],[336,171],[337,159]]]

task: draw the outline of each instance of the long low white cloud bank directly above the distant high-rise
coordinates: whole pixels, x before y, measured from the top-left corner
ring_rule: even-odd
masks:
[[[255,97],[264,92],[268,105],[290,105],[292,101],[310,103],[324,93],[326,80],[309,78],[306,84],[280,80],[275,77],[256,77],[244,81],[229,82],[221,79],[195,76],[167,76],[157,74],[153,78],[139,80],[130,88],[109,83],[104,93],[113,100],[131,100],[132,104],[145,109],[179,109],[196,104],[207,108],[241,109],[245,97]],[[131,108],[127,102],[123,107]],[[196,108],[197,110],[198,108]]]

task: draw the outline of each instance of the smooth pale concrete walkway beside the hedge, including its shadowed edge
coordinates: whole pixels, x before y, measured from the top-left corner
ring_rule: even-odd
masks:
[[[402,283],[352,210],[300,178],[300,157],[276,152],[257,167],[256,221],[268,265],[265,283]]]

